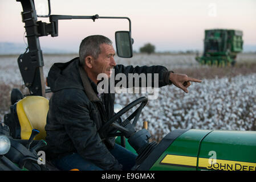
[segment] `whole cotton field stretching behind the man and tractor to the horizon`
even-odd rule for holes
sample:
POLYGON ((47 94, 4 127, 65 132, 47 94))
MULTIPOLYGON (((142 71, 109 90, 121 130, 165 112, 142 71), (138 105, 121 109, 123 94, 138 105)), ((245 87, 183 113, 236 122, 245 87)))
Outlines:
MULTIPOLYGON (((45 55, 44 76, 53 63, 66 62, 76 55, 45 55)), ((148 100, 137 127, 148 121, 152 138, 160 140, 175 129, 256 129, 256 55, 240 54, 236 68, 209 68, 199 65, 195 55, 135 55, 132 59, 116 57, 117 64, 164 65, 174 72, 185 73, 202 80, 189 86, 189 93, 174 85, 159 89, 157 99, 148 100), (240 68, 240 65, 249 64, 240 68), (251 66, 253 65, 253 66, 251 66), (218 71, 218 72, 217 72, 218 71), (227 74, 227 72, 229 72, 227 74), (209 77, 212 75, 212 77, 209 77)), ((21 88, 18 56, 0 57, 0 118, 9 112, 10 90, 21 88)), ((23 90, 24 92, 24 90, 23 90)), ((125 106, 142 96, 150 94, 116 94, 116 104, 125 106)), ((50 96, 48 96, 50 97, 50 96)), ((123 118, 131 114, 129 111, 123 118)))

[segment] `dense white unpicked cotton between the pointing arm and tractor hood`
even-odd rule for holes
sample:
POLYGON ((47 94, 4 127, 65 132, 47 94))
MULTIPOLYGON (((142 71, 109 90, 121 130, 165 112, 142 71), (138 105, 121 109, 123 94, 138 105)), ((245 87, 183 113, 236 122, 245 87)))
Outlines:
MULTIPOLYGON (((233 78, 192 83, 189 93, 173 85, 159 90, 157 100, 144 107, 138 127, 148 121, 154 139, 175 129, 255 130, 256 73, 233 78)), ((117 104, 125 105, 147 94, 117 94, 117 104)))

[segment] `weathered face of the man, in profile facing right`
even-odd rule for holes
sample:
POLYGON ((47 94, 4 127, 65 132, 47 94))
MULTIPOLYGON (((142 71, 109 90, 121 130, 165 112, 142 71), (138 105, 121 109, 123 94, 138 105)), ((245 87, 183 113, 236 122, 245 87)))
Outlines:
POLYGON ((115 59, 115 50, 113 46, 108 44, 100 45, 100 54, 97 59, 94 59, 92 64, 92 72, 94 72, 95 76, 100 73, 107 74, 108 77, 111 76, 110 69, 116 65, 115 59))

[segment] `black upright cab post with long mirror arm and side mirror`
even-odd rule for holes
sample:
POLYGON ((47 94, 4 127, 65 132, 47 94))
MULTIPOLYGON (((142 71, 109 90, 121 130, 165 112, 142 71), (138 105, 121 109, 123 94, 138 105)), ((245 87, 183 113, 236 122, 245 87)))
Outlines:
POLYGON ((48 0, 48 15, 37 15, 35 3, 33 0, 17 0, 21 2, 23 12, 22 22, 25 23, 26 38, 28 47, 26 52, 18 57, 19 70, 21 72, 25 86, 29 89, 33 96, 45 97, 46 92, 51 92, 45 86, 43 76, 43 53, 40 48, 39 37, 58 36, 58 20, 67 19, 127 19, 129 22, 129 31, 117 31, 115 33, 116 51, 119 57, 132 57, 131 38, 131 20, 128 17, 121 16, 73 16, 73 15, 51 15, 51 3, 48 0), (49 18, 50 23, 38 21, 37 17, 49 18))

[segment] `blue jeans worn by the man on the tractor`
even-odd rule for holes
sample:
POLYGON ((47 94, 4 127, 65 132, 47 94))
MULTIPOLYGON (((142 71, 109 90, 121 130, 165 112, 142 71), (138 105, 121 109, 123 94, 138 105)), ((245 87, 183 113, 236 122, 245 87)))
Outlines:
MULTIPOLYGON (((131 151, 115 144, 112 150, 109 150, 111 154, 123 165, 124 171, 129 171, 135 165, 136 154, 131 151)), ((68 171, 70 169, 79 169, 79 171, 103 171, 100 167, 97 167, 90 160, 82 158, 78 153, 64 156, 60 159, 52 160, 52 163, 60 170, 68 171)))

